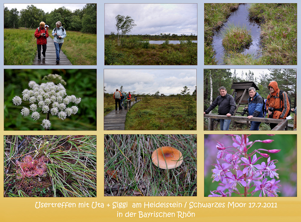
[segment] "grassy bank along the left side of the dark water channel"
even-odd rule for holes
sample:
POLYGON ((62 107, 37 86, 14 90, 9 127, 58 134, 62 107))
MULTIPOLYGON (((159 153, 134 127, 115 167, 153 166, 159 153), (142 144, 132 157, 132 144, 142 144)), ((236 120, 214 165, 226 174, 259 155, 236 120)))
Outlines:
POLYGON ((204 4, 204 64, 216 65, 212 46, 213 34, 227 21, 231 10, 237 9, 238 3, 206 3, 204 4))

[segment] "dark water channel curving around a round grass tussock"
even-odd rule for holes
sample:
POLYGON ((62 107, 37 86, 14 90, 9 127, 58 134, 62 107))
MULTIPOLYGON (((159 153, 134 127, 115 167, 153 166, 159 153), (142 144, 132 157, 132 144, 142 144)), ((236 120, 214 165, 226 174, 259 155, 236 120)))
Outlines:
POLYGON ((231 13, 228 21, 216 32, 213 36, 213 48, 216 51, 216 61, 218 65, 223 64, 223 56, 224 56, 224 47, 222 46, 222 32, 228 28, 229 24, 234 24, 234 26, 245 26, 247 30, 251 30, 250 34, 252 36, 253 42, 246 48, 243 54, 253 54, 256 58, 260 56, 261 48, 260 48, 260 26, 259 22, 256 20, 251 20, 249 15, 248 8, 250 4, 241 4, 238 9, 231 13))

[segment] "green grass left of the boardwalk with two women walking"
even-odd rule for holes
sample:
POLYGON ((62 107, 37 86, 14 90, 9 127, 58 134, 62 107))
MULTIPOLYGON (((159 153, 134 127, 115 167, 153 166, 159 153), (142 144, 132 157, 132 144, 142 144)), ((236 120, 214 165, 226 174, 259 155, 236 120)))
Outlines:
POLYGON ((31 65, 37 53, 35 30, 4 29, 4 65, 31 65))

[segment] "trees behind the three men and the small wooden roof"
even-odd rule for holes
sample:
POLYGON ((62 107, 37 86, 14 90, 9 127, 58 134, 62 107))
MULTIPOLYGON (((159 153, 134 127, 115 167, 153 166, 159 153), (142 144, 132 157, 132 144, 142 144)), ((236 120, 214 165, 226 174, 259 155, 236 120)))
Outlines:
POLYGON ((267 98, 269 94, 268 84, 272 81, 278 83, 278 88, 287 92, 291 99, 291 108, 297 105, 296 89, 297 89, 297 71, 296 69, 268 69, 270 73, 264 70, 260 73, 259 78, 254 73, 249 72, 231 73, 230 69, 204 69, 204 109, 210 105, 210 85, 212 85, 213 100, 220 95, 219 87, 225 86, 227 93, 231 95, 233 89, 230 89, 233 83, 238 82, 254 82, 259 90, 256 90, 263 98, 267 98), (211 76, 211 80, 210 80, 211 76), (210 81, 212 84, 210 84, 210 81))

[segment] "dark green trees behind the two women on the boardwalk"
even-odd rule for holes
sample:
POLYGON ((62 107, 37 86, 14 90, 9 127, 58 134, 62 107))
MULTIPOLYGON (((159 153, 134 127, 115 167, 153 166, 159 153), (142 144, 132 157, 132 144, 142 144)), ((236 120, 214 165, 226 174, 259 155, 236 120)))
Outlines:
POLYGON ((44 21, 49 29, 54 29, 55 23, 61 21, 64 29, 96 34, 97 26, 96 4, 86 4, 82 9, 73 12, 61 7, 50 13, 45 13, 34 5, 27 5, 26 9, 17 11, 17 8, 8 10, 4 8, 4 28, 36 29, 41 21, 44 21))

